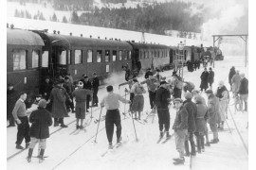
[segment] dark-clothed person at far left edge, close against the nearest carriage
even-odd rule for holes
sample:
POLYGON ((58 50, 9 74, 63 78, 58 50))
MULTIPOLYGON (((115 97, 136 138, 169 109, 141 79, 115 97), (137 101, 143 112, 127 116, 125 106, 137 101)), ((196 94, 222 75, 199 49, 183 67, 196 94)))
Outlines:
POLYGON ((18 99, 18 93, 13 89, 13 84, 8 84, 7 90, 7 120, 9 120, 8 127, 15 127, 14 118, 12 116, 12 110, 18 99))

